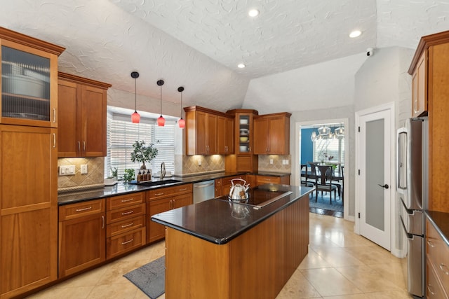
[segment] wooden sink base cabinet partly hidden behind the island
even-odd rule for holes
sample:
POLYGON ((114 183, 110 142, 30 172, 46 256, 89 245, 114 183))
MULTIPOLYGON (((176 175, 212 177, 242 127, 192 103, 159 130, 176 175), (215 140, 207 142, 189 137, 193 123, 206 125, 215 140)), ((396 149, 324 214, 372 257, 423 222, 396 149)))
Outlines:
POLYGON ((184 185, 159 188, 147 191, 147 243, 151 243, 166 236, 165 227, 151 221, 151 216, 170 209, 177 209, 193 204, 193 185, 184 185))

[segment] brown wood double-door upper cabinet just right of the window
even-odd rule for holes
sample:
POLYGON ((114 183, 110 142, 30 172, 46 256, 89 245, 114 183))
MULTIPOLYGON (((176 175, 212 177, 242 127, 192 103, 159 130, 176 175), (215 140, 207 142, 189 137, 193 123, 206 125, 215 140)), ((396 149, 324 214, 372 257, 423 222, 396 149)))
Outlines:
POLYGON ((185 107, 186 154, 227 155, 233 153, 234 121, 225 113, 200 106, 185 107))

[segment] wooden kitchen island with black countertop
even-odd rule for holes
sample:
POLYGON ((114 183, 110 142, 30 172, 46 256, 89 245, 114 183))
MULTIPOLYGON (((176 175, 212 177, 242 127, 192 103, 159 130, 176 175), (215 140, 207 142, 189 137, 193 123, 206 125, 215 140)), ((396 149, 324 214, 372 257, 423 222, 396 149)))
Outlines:
POLYGON ((152 216, 166 225, 166 298, 274 298, 307 255, 313 188, 265 184, 152 216), (266 204, 266 205, 264 205, 266 204))

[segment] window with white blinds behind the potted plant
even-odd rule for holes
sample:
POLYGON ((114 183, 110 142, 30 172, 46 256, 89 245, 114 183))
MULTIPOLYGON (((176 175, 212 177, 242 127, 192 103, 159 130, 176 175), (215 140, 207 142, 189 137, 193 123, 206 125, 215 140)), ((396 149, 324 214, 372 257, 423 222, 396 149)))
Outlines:
POLYGON ((165 162, 166 171, 175 173, 175 122, 166 121, 164 127, 158 127, 156 120, 140 118, 140 123, 131 123, 129 116, 108 113, 107 117, 107 158, 105 160, 105 176, 111 175, 111 168, 118 169, 119 178, 126 168, 139 169, 139 162, 132 162, 130 154, 133 143, 145 141, 158 149, 158 155, 147 169, 156 174, 165 162))

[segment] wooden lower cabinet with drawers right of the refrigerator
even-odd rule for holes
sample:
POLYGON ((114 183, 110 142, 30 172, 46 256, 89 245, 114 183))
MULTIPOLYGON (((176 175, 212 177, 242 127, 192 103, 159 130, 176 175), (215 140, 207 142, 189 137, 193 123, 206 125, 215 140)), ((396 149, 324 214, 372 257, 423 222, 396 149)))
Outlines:
POLYGON ((434 228, 426 221, 427 256, 427 298, 449 298, 449 246, 434 228))

